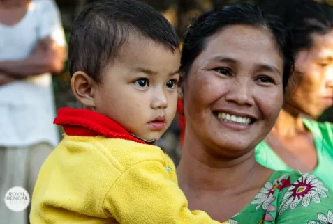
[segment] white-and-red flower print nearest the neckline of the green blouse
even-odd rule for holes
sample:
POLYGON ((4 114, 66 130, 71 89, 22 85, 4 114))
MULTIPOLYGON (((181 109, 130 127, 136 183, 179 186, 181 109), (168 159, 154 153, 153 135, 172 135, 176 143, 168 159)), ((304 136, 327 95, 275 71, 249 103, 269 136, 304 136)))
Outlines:
POLYGON ((282 175, 280 178, 274 179, 273 184, 270 182, 267 182, 265 186, 259 191, 259 193, 256 195, 255 200, 251 202, 252 205, 258 205, 256 207, 256 210, 258 210, 261 206, 262 209, 267 210, 268 205, 272 202, 273 193, 276 189, 280 189, 279 182, 285 177, 285 175, 282 175))

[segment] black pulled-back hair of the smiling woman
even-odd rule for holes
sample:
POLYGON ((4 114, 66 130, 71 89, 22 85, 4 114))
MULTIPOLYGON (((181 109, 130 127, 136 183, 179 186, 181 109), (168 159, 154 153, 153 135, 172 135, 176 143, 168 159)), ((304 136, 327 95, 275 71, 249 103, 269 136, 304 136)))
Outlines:
MULTIPOLYGON (((292 1, 292 0, 290 0, 292 1)), ((205 49, 209 38, 227 26, 249 25, 269 30, 283 58, 283 90, 293 72, 294 56, 290 32, 281 19, 269 15, 258 6, 236 4, 209 11, 193 20, 184 35, 181 72, 185 80, 195 58, 205 49)))

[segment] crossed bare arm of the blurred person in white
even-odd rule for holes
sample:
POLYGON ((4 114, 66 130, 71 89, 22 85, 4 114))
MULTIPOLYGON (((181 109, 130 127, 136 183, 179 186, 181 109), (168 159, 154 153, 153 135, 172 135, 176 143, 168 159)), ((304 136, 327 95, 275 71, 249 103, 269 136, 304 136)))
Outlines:
POLYGON ((43 38, 34 51, 23 60, 0 61, 0 86, 45 72, 59 73, 64 69, 66 49, 51 38, 43 38))

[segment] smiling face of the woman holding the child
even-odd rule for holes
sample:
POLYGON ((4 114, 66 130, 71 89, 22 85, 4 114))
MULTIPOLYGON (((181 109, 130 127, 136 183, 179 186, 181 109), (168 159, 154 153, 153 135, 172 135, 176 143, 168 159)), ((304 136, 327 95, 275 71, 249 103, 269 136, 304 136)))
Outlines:
POLYGON ((282 78, 283 60, 269 31, 244 25, 219 31, 184 83, 186 136, 228 157, 252 150, 279 115, 282 78))

